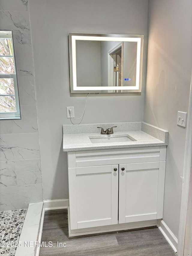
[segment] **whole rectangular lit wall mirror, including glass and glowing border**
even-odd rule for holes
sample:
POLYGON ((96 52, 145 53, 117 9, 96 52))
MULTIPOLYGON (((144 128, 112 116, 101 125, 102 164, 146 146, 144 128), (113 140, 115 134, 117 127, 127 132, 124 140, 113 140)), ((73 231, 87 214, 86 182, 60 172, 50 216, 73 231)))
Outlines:
POLYGON ((141 92, 143 35, 69 33, 70 92, 141 92))

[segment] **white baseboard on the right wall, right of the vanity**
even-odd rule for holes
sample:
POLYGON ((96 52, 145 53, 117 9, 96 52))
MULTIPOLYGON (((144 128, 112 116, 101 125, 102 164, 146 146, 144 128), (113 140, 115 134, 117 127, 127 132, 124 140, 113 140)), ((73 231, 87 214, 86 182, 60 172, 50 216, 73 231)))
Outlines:
POLYGON ((167 242, 172 247, 173 251, 177 252, 177 246, 178 246, 178 239, 173 234, 173 232, 170 230, 170 228, 165 224, 163 220, 158 221, 158 228, 161 231, 161 233, 164 235, 167 242))

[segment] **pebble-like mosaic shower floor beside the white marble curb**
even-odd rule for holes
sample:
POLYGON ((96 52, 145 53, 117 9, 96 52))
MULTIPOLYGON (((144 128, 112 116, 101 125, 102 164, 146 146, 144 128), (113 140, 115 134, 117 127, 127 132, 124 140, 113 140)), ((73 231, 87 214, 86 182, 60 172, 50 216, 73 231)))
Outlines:
POLYGON ((0 212, 0 255, 15 255, 16 247, 10 245, 19 242, 26 213, 27 209, 0 212))

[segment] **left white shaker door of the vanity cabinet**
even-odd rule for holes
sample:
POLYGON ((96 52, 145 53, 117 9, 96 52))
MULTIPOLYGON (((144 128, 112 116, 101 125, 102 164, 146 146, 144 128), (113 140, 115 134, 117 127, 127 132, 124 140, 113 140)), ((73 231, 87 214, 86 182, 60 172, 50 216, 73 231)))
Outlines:
POLYGON ((118 223, 119 166, 68 168, 70 228, 118 223))

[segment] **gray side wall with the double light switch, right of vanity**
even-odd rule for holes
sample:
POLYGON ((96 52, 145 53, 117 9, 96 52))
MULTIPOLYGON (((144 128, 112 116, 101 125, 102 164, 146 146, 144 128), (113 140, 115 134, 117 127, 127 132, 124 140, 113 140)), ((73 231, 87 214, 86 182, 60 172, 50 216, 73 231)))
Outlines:
POLYGON ((177 111, 188 111, 192 68, 191 0, 150 0, 144 121, 169 131, 163 220, 178 237, 186 128, 177 111))

